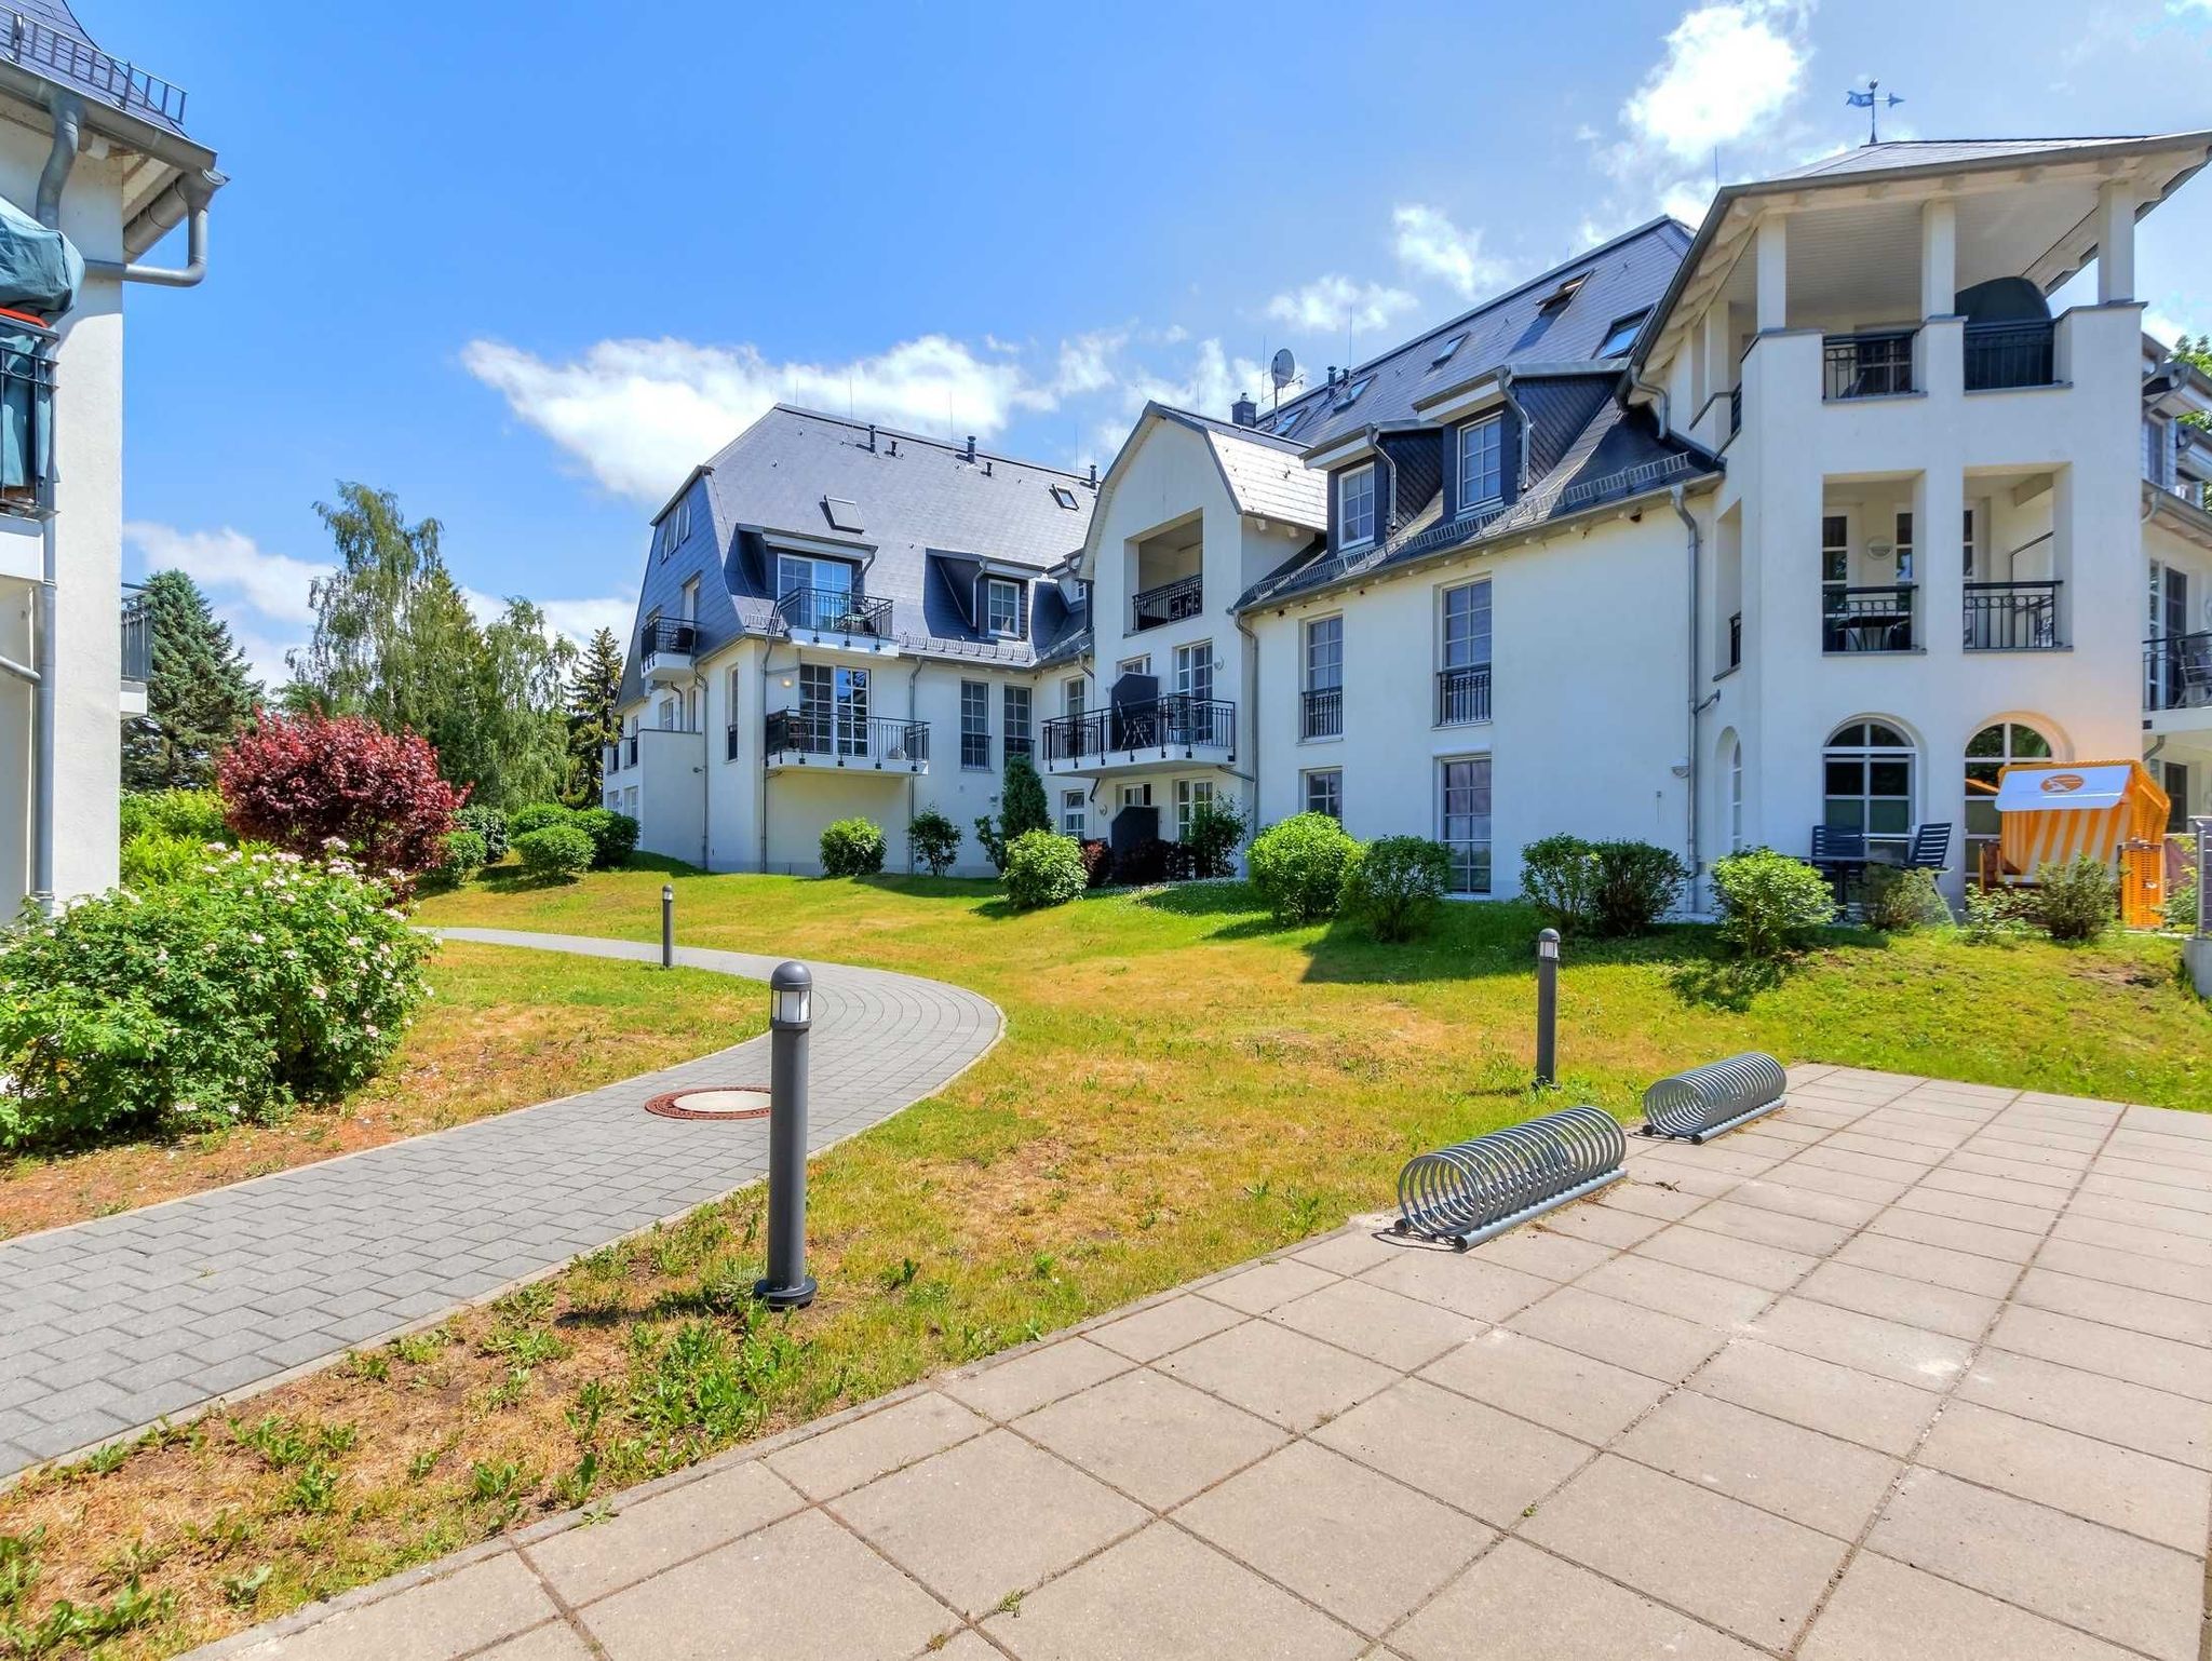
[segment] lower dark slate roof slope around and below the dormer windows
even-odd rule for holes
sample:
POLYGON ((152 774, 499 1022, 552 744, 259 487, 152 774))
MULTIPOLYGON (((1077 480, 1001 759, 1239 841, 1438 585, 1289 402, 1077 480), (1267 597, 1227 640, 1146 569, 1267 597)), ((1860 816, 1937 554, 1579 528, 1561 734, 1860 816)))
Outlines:
POLYGON ((1272 606, 1416 560, 1502 542, 1721 471, 1717 456, 1663 436, 1650 409, 1624 407, 1613 396, 1613 380, 1608 369, 1515 383, 1531 422, 1533 478, 1511 506, 1447 520, 1438 502, 1385 544, 1360 549, 1349 560, 1325 546, 1307 549, 1252 584, 1237 608, 1272 606))

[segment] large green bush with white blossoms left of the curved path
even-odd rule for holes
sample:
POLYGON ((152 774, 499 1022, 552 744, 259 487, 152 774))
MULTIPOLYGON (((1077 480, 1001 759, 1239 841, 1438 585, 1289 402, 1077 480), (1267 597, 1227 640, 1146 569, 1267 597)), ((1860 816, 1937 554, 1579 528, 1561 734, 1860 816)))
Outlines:
POLYGON ((374 1075, 431 944, 343 852, 208 849, 0 936, 0 1148, 270 1119, 374 1075))

